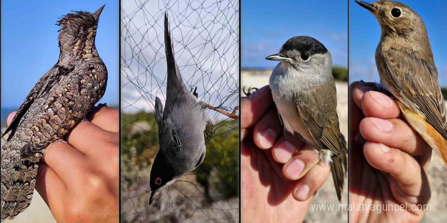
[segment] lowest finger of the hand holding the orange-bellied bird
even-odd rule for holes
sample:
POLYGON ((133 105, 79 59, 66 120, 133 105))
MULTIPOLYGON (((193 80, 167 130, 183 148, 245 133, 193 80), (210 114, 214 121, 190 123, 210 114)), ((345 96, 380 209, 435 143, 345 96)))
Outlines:
POLYGON ((368 163, 396 179, 400 189, 418 197, 422 188, 421 166, 407 153, 382 143, 367 141, 363 152, 368 163))

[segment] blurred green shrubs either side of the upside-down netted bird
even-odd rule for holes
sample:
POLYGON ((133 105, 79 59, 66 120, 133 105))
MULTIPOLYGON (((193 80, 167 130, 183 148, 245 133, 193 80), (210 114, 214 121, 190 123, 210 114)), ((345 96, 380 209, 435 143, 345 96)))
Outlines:
MULTIPOLYGON (((194 170, 196 180, 205 189, 207 198, 228 199, 238 196, 238 126, 239 120, 213 122, 215 132, 207 140, 205 160, 194 170)), ((152 114, 121 113, 121 163, 150 169, 158 148, 158 129, 152 114)), ((131 169, 121 168, 121 171, 124 171, 122 176, 126 181, 135 179, 135 176, 129 176, 131 169)))

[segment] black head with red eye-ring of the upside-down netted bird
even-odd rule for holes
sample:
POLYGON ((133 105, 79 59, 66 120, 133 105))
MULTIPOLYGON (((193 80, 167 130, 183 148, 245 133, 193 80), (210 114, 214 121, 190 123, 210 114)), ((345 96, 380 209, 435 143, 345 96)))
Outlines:
POLYGON ((171 183, 174 180, 174 176, 174 168, 167 162, 165 154, 162 151, 158 151, 158 154, 152 164, 152 169, 150 170, 149 184, 151 195, 149 205, 152 204, 155 193, 166 184, 171 183))

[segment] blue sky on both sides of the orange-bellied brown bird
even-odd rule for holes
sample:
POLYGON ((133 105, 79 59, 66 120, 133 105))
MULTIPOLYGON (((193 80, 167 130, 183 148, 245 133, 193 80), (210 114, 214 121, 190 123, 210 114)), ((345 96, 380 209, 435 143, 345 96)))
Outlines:
MULTIPOLYGON (((446 1, 400 1, 411 7, 424 20, 433 51, 438 79, 447 87, 447 9, 446 1)), ((379 82, 375 49, 380 40, 380 27, 374 16, 354 1, 349 1, 349 82, 363 79, 379 82)))

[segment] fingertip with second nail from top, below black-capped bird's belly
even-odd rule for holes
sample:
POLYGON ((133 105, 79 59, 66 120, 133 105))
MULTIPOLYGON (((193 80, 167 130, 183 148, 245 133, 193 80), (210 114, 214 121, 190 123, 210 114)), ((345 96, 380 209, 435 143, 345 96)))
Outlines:
POLYGON ((303 146, 298 137, 287 134, 280 137, 272 147, 272 157, 278 163, 288 162, 293 155, 303 146))

